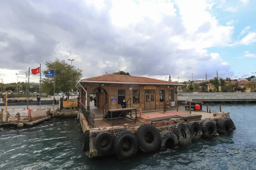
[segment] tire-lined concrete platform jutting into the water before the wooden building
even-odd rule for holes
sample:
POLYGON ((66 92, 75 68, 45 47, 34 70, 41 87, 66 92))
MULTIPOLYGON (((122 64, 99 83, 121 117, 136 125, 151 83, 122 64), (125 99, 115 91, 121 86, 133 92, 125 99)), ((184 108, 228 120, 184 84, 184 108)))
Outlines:
POLYGON ((175 149, 236 129, 228 112, 172 111, 143 113, 141 116, 136 116, 136 112, 126 116, 126 113, 131 113, 129 108, 112 111, 114 126, 106 120, 110 119, 111 112, 90 123, 84 114, 78 113, 84 133, 82 150, 89 158, 115 154, 119 159, 131 159, 138 149, 144 152, 175 149), (94 127, 91 127, 92 123, 94 127))

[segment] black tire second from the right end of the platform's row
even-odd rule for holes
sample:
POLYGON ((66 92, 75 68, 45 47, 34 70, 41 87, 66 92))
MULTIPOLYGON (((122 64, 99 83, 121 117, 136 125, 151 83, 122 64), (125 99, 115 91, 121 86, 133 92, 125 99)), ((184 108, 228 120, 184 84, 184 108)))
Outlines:
POLYGON ((217 127, 214 122, 206 120, 200 123, 204 138, 215 138, 218 136, 217 127))

